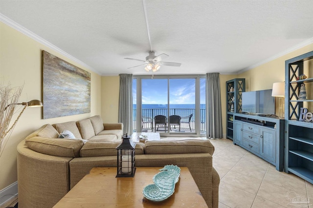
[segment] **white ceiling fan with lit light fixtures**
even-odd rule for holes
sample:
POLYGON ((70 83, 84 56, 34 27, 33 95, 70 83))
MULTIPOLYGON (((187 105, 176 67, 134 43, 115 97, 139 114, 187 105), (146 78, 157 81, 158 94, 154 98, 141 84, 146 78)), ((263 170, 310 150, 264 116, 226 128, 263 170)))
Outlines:
MULTIPOLYGON (((165 53, 162 53, 156 56, 154 51, 149 51, 149 56, 146 57, 146 61, 140 60, 140 59, 132 59, 132 58, 124 58, 124 59, 144 62, 143 64, 140 64, 137 66, 146 65, 145 70, 147 72, 149 72, 150 70, 152 70, 152 72, 156 72, 157 70, 159 70, 161 65, 166 65, 166 66, 180 66, 181 65, 181 63, 175 63, 175 62, 162 62, 162 59, 165 59, 167 57, 169 56, 165 53)), ((129 67, 129 69, 137 67, 137 66, 129 67)))

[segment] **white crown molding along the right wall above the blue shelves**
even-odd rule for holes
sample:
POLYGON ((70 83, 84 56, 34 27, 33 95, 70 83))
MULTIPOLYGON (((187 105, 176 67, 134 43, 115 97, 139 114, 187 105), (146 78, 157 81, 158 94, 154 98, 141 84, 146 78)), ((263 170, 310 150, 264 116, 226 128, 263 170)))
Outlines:
POLYGON ((289 54, 289 53, 291 53, 291 52, 293 52, 293 51, 295 51, 295 50, 297 50, 297 49, 303 48, 304 46, 307 46, 307 45, 312 44, 312 43, 313 43, 313 38, 310 38, 310 39, 308 39, 308 40, 306 40, 306 41, 304 41, 304 42, 301 42, 301 43, 299 43, 299 44, 297 44, 297 45, 294 45, 293 47, 291 47, 291 48, 289 48, 289 49, 287 49, 287 50, 285 50, 285 51, 283 51, 283 52, 281 52, 281 53, 278 53, 278 54, 276 54, 276 55, 274 55, 274 56, 272 56, 272 57, 269 57, 268 59, 263 60, 262 62, 258 62, 258 63, 256 63, 256 64, 253 64, 253 65, 251 65, 251 66, 248 66, 248 67, 246 67, 246 68, 244 68, 244 69, 238 71, 237 74, 241 74, 241 73, 243 73, 243 72, 245 72, 245 71, 248 71, 248 70, 250 70, 250 69, 253 69, 253 68, 255 68, 255 67, 258 67, 258 66, 260 66, 260 65, 262 65, 262 64, 264 64, 264 63, 267 63, 267 62, 273 61, 273 60, 275 60, 275 59, 278 59, 279 57, 282 57, 282 56, 284 56, 284 55, 286 55, 286 54, 289 54))

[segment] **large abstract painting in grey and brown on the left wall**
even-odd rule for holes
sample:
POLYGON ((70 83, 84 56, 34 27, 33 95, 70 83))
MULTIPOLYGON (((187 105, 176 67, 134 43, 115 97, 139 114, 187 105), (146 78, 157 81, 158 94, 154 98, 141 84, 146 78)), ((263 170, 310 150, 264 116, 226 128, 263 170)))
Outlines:
POLYGON ((90 112, 90 73, 46 51, 42 54, 43 119, 90 112))

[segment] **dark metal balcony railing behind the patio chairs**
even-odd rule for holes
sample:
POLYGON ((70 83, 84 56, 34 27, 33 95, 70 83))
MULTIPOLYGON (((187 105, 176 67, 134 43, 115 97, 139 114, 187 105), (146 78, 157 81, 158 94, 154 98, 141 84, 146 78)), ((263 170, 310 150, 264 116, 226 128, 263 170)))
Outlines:
MULTIPOLYGON (((148 108, 148 109, 142 109, 141 115, 144 117, 151 118, 152 123, 143 123, 142 129, 153 129, 154 128, 154 117, 156 115, 164 115, 167 116, 167 109, 161 109, 161 108, 148 108), (151 126, 152 125, 152 126, 151 126)), ((190 120, 190 128, 193 132, 195 132, 195 109, 194 108, 170 108, 170 116, 171 115, 179 115, 181 118, 185 117, 187 118, 189 115, 193 114, 190 120)), ((133 131, 137 131, 136 127, 136 109, 133 109, 133 131)), ((140 118, 141 120, 141 118, 140 118)), ((188 119, 184 119, 184 122, 188 119)), ((142 124, 142 121, 140 122, 142 124)), ((180 124, 181 129, 189 129, 188 123, 181 123, 180 124)), ((206 125, 205 125, 205 109, 200 109, 200 131, 201 133, 206 132, 206 125)))

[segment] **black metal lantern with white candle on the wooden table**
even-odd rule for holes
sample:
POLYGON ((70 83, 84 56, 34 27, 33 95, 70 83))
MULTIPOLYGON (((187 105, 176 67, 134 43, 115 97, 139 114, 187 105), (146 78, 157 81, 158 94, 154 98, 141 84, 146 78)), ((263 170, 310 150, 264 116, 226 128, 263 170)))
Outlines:
POLYGON ((135 167, 135 143, 127 134, 122 136, 122 144, 117 149, 117 174, 116 177, 134 177, 135 167))

